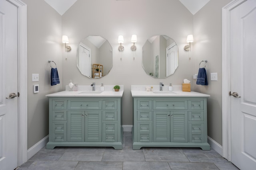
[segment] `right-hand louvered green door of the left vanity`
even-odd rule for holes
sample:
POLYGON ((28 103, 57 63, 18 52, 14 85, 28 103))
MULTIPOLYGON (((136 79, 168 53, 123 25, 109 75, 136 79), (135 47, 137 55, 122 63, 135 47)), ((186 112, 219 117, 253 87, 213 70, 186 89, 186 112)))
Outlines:
POLYGON ((102 141, 102 115, 101 111, 85 111, 85 141, 102 141))

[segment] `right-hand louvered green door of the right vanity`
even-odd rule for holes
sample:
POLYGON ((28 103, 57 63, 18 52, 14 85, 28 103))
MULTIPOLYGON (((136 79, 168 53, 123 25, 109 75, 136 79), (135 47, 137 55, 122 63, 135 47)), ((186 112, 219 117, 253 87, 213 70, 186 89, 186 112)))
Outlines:
POLYGON ((188 142, 188 112, 171 111, 171 142, 188 142))

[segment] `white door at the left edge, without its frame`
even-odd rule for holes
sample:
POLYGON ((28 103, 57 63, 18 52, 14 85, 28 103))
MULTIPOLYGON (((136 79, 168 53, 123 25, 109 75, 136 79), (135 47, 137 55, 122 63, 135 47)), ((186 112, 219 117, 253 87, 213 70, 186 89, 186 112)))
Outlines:
POLYGON ((18 94, 17 11, 10 2, 0 0, 1 170, 13 170, 18 166, 18 97, 15 97, 18 94), (9 96, 11 93, 15 94, 9 96))

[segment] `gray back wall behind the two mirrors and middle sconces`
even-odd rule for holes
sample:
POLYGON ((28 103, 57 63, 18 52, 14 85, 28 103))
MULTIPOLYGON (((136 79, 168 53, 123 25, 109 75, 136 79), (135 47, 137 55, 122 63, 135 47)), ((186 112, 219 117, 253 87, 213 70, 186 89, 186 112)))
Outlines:
POLYGON ((193 64, 188 60, 188 52, 183 50, 186 37, 193 33, 193 15, 179 0, 78 0, 62 16, 62 34, 68 35, 72 51, 68 52, 68 61, 63 60, 63 88, 72 78, 79 85, 124 85, 122 121, 132 125, 131 85, 181 85, 184 78, 191 79, 193 64), (100 4, 100 5, 99 5, 100 4), (172 18, 172 22, 170 22, 172 18), (135 60, 130 49, 132 34, 136 34, 135 60), (76 68, 76 47, 80 40, 88 35, 101 35, 108 39, 113 47, 113 67, 107 76, 89 79, 82 76, 76 68), (118 35, 124 36, 122 61, 118 51, 118 35), (175 74, 164 79, 148 76, 142 68, 142 46, 153 35, 167 35, 173 38, 179 47, 179 67, 175 74), (66 69, 68 68, 68 69, 66 69))

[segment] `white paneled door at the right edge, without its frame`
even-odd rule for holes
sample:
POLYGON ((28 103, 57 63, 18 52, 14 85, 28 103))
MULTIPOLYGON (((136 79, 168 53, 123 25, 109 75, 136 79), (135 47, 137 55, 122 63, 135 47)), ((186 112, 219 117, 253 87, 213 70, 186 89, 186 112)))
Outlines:
POLYGON ((256 0, 247 0, 231 11, 231 162, 241 170, 256 167, 255 47, 256 0))

